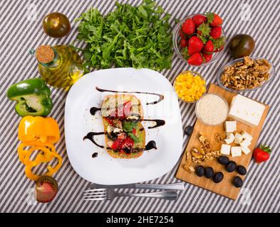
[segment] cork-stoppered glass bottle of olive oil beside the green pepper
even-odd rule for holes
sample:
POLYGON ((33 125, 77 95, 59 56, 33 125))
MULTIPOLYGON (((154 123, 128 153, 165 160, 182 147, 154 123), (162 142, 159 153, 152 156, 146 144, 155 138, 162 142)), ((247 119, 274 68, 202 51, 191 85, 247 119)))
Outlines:
POLYGON ((38 61, 42 79, 53 87, 68 90, 84 74, 81 57, 67 45, 41 45, 31 54, 38 61))

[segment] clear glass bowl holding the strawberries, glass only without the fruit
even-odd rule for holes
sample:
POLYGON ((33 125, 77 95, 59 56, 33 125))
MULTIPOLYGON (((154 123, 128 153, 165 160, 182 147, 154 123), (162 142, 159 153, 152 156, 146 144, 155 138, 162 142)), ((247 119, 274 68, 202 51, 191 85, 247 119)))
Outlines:
MULTIPOLYGON (((187 16, 182 21, 177 23, 177 25, 175 26, 175 29, 173 31, 173 38, 172 39, 173 39, 173 47, 175 48, 175 52, 178 55, 178 57, 180 57, 180 59, 183 60, 186 63, 187 63, 187 60, 185 60, 185 58, 182 56, 182 53, 180 52, 180 40, 181 40, 180 29, 181 29, 182 23, 184 23, 187 20, 187 18, 192 18, 195 15, 206 16, 205 14, 200 14, 200 13, 195 13, 195 14, 192 14, 190 16, 187 16)), ((222 29, 222 36, 224 36, 226 38, 226 36, 224 35, 224 30, 223 29, 222 29)), ((224 43, 224 48, 226 47, 226 45, 227 45, 227 41, 224 43)), ((191 66, 202 67, 202 66, 205 66, 205 65, 210 65, 213 62, 216 62, 220 57, 222 57, 222 53, 224 52, 224 48, 219 52, 214 52, 213 55, 212 55, 212 59, 209 60, 209 62, 202 63, 202 65, 191 65, 191 66)))

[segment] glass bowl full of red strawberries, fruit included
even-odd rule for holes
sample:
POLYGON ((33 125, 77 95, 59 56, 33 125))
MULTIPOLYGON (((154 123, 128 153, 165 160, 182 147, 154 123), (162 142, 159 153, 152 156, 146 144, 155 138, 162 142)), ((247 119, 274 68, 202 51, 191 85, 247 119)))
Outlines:
POLYGON ((184 18, 173 31, 176 54, 192 66, 216 62, 226 45, 222 22, 222 18, 211 12, 184 18))

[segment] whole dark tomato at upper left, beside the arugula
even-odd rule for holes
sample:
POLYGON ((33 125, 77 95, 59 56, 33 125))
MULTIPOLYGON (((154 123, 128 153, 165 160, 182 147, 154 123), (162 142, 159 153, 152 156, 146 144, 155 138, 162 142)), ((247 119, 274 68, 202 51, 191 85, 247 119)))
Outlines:
POLYGON ((71 25, 62 13, 50 13, 43 18, 43 31, 52 38, 61 38, 70 32, 71 25))

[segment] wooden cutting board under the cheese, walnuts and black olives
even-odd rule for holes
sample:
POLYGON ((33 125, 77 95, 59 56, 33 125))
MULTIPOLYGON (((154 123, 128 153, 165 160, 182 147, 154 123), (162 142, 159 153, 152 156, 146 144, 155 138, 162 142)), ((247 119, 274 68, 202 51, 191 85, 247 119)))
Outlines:
MULTIPOLYGON (((214 84, 210 84, 208 93, 215 93, 215 94, 219 94, 219 95, 223 96, 224 99, 227 100, 229 106, 232 102, 232 98, 235 95, 237 95, 236 93, 228 92, 227 90, 222 89, 221 87, 218 87, 217 85, 214 85, 214 84)), ((247 133, 249 133, 253 136, 252 144, 249 146, 249 148, 251 150, 253 150, 256 146, 256 142, 261 133, 261 128, 264 124, 264 120, 269 111, 269 106, 266 104, 264 104, 264 106, 266 106, 266 108, 264 110, 264 114, 261 117, 259 126, 250 127, 250 126, 247 126, 247 125, 237 121, 237 132, 238 133, 242 133, 242 131, 247 131, 247 133)), ((183 169, 183 166, 187 164, 187 152, 190 152, 190 150, 192 150, 192 148, 194 148, 194 147, 199 148, 199 146, 201 145, 201 143, 199 143, 199 140, 198 140, 199 133, 203 133, 207 137, 207 139, 209 140, 209 143, 212 145, 213 150, 220 150, 222 143, 216 142, 215 135, 216 135, 216 133, 224 133, 224 123, 219 126, 206 126, 203 123, 201 123, 199 120, 196 121, 194 131, 190 137, 189 143, 187 144, 187 148, 182 157, 180 166, 177 170, 176 177, 178 179, 182 179, 185 182, 189 182, 191 184, 197 185, 198 187, 207 189, 211 192, 215 192, 222 196, 227 196, 229 199, 234 199, 234 200, 237 199, 240 188, 234 187, 234 185, 232 184, 232 180, 235 176, 239 176, 242 179, 244 179, 244 177, 246 177, 246 176, 239 175, 237 173, 237 171, 227 172, 225 170, 224 165, 221 165, 221 164, 219 164, 219 162, 217 162, 217 158, 214 158, 213 160, 211 160, 209 162, 202 162, 199 164, 195 164, 193 162, 190 162, 190 163, 192 163, 192 165, 194 167, 197 165, 203 165, 204 167, 212 167, 214 169, 214 172, 221 171, 224 174, 224 179, 219 184, 214 183, 212 181, 212 179, 207 179, 206 177, 198 177, 195 173, 183 169)), ((242 153, 242 156, 240 156, 240 157, 229 156, 229 160, 234 160, 235 162, 237 162, 237 165, 243 165, 246 168, 248 167, 251 158, 252 158, 252 151, 248 155, 244 155, 242 153)), ((246 179, 244 179, 244 180, 246 180, 246 179)))

